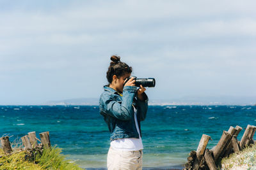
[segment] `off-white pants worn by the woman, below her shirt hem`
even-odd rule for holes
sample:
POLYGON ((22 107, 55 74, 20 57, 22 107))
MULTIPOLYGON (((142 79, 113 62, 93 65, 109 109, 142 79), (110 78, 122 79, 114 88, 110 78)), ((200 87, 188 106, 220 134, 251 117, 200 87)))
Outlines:
POLYGON ((142 156, 143 150, 114 150, 110 147, 108 151, 108 170, 141 170, 142 156))

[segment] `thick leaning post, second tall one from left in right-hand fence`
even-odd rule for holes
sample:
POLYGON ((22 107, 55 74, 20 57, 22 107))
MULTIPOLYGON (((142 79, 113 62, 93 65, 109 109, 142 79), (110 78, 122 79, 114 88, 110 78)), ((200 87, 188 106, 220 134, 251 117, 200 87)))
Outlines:
POLYGON ((223 151, 227 143, 230 142, 231 138, 232 138, 232 135, 230 133, 228 133, 227 131, 223 131, 220 141, 218 142, 218 144, 216 145, 216 148, 214 148, 214 151, 213 151, 215 161, 218 160, 221 152, 223 151))

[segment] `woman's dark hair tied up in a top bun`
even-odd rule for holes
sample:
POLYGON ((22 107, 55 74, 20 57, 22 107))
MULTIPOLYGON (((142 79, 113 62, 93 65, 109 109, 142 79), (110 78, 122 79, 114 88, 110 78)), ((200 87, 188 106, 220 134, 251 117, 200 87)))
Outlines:
POLYGON ((120 76, 123 76, 126 73, 132 73, 132 67, 129 67, 125 62, 121 62, 119 56, 112 55, 110 59, 112 61, 110 62, 110 66, 107 71, 107 79, 109 83, 112 83, 113 75, 120 78, 120 76))

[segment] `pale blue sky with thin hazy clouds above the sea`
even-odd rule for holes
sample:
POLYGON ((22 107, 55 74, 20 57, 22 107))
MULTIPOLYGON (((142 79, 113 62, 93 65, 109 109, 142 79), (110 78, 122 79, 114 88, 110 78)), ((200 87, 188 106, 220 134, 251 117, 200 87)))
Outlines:
POLYGON ((98 98, 111 55, 149 99, 256 96, 256 1, 2 1, 0 105, 98 98))

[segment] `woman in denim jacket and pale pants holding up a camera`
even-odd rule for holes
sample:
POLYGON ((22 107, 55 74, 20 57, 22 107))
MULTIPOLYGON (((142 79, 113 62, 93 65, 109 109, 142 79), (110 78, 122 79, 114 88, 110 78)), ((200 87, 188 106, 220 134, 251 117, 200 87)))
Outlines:
POLYGON ((132 67, 113 55, 107 71, 109 85, 104 86, 100 96, 100 114, 108 124, 110 147, 108 170, 142 169, 143 144, 140 122, 145 120, 148 97, 145 88, 137 90, 132 67))

